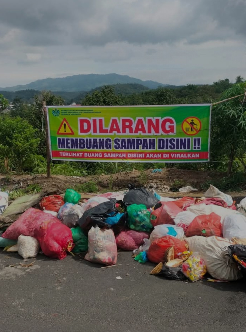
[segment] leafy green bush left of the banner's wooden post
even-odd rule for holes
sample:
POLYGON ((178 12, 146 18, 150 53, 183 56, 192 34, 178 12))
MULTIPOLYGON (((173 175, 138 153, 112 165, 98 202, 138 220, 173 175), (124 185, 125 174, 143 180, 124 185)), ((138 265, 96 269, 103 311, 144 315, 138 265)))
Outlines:
POLYGON ((35 134, 36 130, 26 120, 0 118, 0 156, 20 173, 38 149, 40 139, 35 134))

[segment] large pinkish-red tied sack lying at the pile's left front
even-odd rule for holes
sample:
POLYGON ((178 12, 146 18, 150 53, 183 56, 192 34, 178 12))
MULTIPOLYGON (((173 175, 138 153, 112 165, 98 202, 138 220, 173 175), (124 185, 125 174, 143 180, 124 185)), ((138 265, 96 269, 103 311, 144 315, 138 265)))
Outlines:
POLYGON ((66 251, 73 248, 72 232, 50 213, 30 207, 2 234, 17 240, 19 235, 35 237, 43 253, 52 258, 63 259, 66 251))

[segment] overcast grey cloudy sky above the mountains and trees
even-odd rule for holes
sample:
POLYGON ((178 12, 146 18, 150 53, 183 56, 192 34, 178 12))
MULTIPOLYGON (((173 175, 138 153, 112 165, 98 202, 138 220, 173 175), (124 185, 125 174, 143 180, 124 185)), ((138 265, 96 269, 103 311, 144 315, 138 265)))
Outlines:
POLYGON ((246 0, 7 0, 0 86, 118 73, 164 84, 246 78, 246 0))

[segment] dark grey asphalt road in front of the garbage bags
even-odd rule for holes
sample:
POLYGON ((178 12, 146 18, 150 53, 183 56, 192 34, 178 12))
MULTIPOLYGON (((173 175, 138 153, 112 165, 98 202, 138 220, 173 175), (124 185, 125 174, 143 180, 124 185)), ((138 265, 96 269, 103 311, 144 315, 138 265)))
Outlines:
POLYGON ((119 253, 121 266, 105 269, 70 254, 24 264, 31 262, 22 267, 18 254, 0 253, 0 331, 245 331, 245 280, 169 281, 150 276, 154 265, 135 262, 130 252, 119 253))

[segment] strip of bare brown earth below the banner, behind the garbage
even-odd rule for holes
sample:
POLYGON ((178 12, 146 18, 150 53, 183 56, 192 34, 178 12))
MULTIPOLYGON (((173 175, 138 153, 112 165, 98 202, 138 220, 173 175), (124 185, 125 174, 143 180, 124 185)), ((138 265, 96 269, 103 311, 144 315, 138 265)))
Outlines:
POLYGON ((14 190, 39 185, 43 190, 56 189, 58 193, 64 193, 67 188, 74 188, 90 182, 97 185, 98 192, 126 189, 129 184, 134 184, 136 187, 145 186, 154 188, 159 192, 177 192, 179 188, 186 185, 191 185, 201 190, 203 184, 208 183, 214 178, 218 179, 224 176, 224 173, 219 172, 180 170, 175 168, 163 169, 162 172, 156 173, 152 173, 152 170, 133 170, 110 175, 85 177, 53 175, 49 179, 45 175, 2 174, 0 175, 0 187, 5 190, 14 190))

